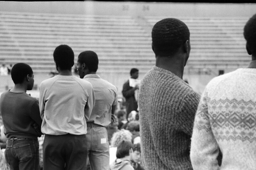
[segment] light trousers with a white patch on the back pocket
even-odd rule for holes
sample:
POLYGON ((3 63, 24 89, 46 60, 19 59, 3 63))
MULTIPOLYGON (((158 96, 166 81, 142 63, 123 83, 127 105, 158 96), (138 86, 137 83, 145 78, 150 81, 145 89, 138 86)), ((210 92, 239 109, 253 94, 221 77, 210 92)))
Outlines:
POLYGON ((108 132, 103 126, 87 122, 87 147, 91 170, 108 170, 108 132))

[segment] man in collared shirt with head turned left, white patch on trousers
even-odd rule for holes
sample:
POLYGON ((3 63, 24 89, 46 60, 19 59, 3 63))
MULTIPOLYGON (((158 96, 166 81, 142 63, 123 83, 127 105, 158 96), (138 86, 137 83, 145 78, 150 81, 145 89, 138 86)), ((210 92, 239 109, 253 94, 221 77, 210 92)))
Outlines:
MULTIPOLYGON (((92 84, 95 106, 87 123, 87 149, 92 170, 108 170, 109 144, 106 126, 116 122, 117 89, 96 73, 99 59, 95 52, 84 51, 78 55, 77 70, 80 78, 92 84)), ((84 158, 86 159, 86 157, 84 158)))

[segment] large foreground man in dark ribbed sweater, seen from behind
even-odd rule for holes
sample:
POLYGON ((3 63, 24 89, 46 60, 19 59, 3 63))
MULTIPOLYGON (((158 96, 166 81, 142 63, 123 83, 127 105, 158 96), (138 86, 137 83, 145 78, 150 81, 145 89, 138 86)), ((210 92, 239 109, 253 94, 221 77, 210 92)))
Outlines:
POLYGON ((175 18, 152 29, 154 66, 139 91, 142 162, 150 170, 192 170, 190 138, 199 95, 182 80, 190 53, 189 30, 175 18))

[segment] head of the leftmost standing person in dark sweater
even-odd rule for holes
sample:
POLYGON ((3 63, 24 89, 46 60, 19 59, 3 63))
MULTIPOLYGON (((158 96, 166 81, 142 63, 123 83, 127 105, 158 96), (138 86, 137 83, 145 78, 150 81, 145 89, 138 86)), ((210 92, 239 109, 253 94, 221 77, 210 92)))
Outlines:
POLYGON ((28 64, 15 64, 11 70, 11 77, 15 85, 26 84, 27 90, 32 90, 34 86, 34 74, 32 68, 28 64))

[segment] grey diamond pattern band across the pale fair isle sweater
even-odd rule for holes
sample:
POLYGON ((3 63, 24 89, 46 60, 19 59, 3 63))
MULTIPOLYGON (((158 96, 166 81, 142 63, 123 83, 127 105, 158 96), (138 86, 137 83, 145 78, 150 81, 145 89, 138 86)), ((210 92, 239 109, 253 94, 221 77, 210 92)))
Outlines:
MULTIPOLYGON (((212 110, 208 116, 217 140, 256 141, 255 102, 236 99, 210 100, 208 109, 212 110)), ((205 113, 200 112, 198 116, 204 119, 205 113)), ((209 130, 204 123, 197 124, 197 128, 209 130)))

